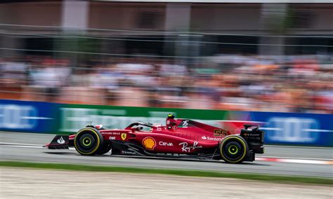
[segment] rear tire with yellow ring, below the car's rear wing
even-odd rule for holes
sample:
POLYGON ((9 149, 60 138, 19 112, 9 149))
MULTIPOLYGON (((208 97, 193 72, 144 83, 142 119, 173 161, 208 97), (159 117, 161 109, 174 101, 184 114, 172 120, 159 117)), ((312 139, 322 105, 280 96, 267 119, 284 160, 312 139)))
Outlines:
POLYGON ((218 147, 221 158, 226 163, 242 163, 249 153, 247 142, 239 135, 228 135, 218 147))

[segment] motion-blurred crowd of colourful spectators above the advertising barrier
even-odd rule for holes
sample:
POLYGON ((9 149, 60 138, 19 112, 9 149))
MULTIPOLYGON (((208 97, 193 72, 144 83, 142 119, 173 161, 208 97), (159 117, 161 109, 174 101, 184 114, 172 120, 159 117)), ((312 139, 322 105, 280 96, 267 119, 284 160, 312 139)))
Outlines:
POLYGON ((333 114, 333 58, 216 55, 73 62, 0 58, 0 98, 134 107, 333 114))

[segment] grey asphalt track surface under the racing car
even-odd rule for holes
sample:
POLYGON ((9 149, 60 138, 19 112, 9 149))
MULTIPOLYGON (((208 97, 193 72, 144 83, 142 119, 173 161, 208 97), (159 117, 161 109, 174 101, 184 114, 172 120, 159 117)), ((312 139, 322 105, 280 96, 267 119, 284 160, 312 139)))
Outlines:
MULTIPOLYGON (((279 174, 288 176, 333 178, 333 165, 312 163, 280 163, 256 160, 253 163, 228 164, 215 160, 175 160, 132 156, 81 156, 75 150, 43 148, 54 135, 18 132, 0 132, 0 160, 19 160, 46 163, 74 163, 85 165, 112 165, 124 167, 165 168, 181 170, 210 170, 279 174)), ((333 160, 332 148, 265 146, 265 153, 257 157, 302 160, 333 160)), ((135 168, 133 168, 135 169, 135 168)))

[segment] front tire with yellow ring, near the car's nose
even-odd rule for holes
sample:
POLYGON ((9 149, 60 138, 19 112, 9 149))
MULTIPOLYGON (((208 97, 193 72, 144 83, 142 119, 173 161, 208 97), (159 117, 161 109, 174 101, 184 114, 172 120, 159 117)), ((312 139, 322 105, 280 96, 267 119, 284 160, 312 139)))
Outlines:
POLYGON ((74 147, 84 156, 94 156, 103 149, 103 136, 96 128, 82 128, 74 138, 74 147))

